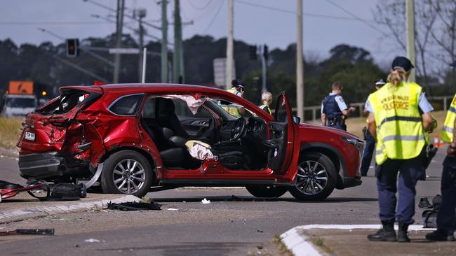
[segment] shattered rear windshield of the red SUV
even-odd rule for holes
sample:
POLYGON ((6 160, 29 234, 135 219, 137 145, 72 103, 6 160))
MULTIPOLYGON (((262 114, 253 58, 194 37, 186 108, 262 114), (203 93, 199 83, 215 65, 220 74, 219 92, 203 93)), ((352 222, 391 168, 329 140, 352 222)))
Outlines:
POLYGON ((60 95, 55 100, 49 102, 43 108, 40 108, 38 113, 41 114, 64 114, 68 113, 74 108, 81 106, 84 103, 91 101, 90 98, 98 97, 97 93, 88 93, 80 90, 69 91, 65 94, 60 95), (95 95, 93 95, 95 94, 95 95))

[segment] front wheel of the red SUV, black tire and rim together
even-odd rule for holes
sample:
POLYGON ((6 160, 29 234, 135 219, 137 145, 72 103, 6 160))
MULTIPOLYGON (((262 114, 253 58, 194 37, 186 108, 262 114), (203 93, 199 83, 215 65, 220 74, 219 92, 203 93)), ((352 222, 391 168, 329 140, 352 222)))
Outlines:
POLYGON ((307 152, 300 157, 295 185, 290 194, 300 201, 321 201, 334 190, 337 180, 331 159, 319 152, 307 152))

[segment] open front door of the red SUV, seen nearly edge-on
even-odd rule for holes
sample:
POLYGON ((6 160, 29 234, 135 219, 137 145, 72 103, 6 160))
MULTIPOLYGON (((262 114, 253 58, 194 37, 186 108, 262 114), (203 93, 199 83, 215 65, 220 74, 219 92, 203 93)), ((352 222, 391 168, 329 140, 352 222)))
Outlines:
POLYGON ((269 152, 268 166, 275 173, 285 173, 293 158, 293 143, 295 143, 295 123, 290 107, 290 101, 281 92, 276 101, 274 121, 269 122, 269 139, 276 148, 269 152))

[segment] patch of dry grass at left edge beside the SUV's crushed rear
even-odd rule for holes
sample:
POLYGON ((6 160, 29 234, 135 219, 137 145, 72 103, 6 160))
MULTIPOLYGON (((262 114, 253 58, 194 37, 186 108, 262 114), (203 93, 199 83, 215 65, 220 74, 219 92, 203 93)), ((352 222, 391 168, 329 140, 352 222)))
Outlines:
POLYGON ((14 149, 20 136, 23 118, 0 117, 0 147, 14 149))

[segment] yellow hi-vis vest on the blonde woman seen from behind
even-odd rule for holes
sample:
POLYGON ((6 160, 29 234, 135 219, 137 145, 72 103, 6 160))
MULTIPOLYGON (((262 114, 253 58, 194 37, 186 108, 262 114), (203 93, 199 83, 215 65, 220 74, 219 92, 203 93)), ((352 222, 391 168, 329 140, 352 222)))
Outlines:
POLYGON ((387 83, 371 94, 370 104, 377 125, 375 162, 387 159, 410 159, 424 147, 424 129, 418 101, 422 87, 401 82, 396 87, 387 83))

